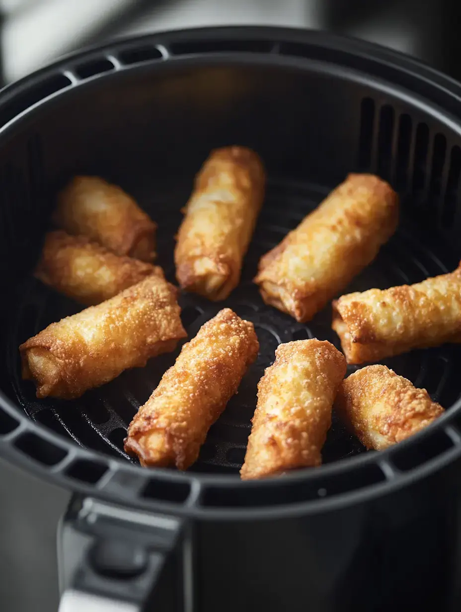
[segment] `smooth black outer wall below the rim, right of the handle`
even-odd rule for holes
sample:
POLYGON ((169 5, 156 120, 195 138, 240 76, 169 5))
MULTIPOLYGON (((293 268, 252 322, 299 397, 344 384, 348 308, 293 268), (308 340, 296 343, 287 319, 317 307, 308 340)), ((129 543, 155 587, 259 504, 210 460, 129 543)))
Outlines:
POLYGON ((459 610, 456 497, 428 482, 312 516, 200 524, 197 610, 459 610))

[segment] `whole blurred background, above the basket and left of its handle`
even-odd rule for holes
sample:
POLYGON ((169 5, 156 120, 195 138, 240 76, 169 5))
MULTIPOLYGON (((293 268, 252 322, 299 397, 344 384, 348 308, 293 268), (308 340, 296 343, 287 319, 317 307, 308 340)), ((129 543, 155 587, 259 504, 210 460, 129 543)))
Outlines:
MULTIPOLYGON (((461 79, 460 15, 460 0, 0 0, 0 82, 114 37, 225 24, 339 32, 461 79)), ((56 526, 69 494, 5 463, 0 487, 0 610, 57 610, 56 526)))

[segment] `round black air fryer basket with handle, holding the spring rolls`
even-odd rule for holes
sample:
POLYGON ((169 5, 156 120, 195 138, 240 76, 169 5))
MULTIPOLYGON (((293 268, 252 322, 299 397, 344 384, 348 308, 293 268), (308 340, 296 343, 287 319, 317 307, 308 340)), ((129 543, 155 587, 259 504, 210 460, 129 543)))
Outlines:
POLYGON ((427 430, 364 452, 334 419, 320 468, 238 476, 257 383, 277 345, 318 337, 339 346, 329 308, 298 324, 263 304, 251 282, 258 258, 348 172, 363 171, 399 191, 402 220, 345 293, 454 269, 460 111, 461 85, 418 62, 276 28, 124 40, 4 89, 0 450, 75 491, 60 535, 63 612, 461 610, 461 347, 386 360, 448 409, 427 430), (31 269, 58 189, 96 174, 159 223, 158 261, 173 280, 193 176, 211 149, 229 144, 261 155, 266 200, 238 289, 220 304, 183 295, 182 317, 192 337, 229 306, 255 324, 260 355, 189 471, 142 469, 122 440, 178 351, 80 400, 37 400, 21 381, 18 346, 80 307, 31 269))

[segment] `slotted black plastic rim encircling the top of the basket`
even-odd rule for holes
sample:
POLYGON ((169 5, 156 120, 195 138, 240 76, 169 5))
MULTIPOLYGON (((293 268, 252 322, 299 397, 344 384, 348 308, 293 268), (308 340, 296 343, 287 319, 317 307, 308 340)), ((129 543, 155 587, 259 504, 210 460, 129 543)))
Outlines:
MULTIPOLYGON (((152 69, 152 64, 160 67, 165 62, 177 64, 192 60, 195 63, 277 63, 298 69, 303 69, 307 63, 312 67, 314 62, 323 69, 328 66, 331 72, 340 69, 343 78, 348 76, 345 72, 349 71, 356 78, 392 89, 394 94, 399 92, 402 97, 424 106, 426 111, 437 115, 452 130, 461 134, 461 124, 454 116, 461 108, 461 85, 436 70, 402 54, 357 40, 322 32, 249 27, 204 28, 148 35, 92 48, 56 62, 2 90, 0 144, 1 138, 14 135, 22 118, 38 110, 42 104, 48 104, 51 99, 59 102, 59 95, 75 87, 86 86, 89 81, 100 78, 111 78, 124 70, 144 69, 146 66, 152 69), (225 41, 230 43, 226 45, 225 41), (214 45, 214 42, 219 44, 214 45), (48 89, 45 87, 44 90, 43 84, 49 85, 48 89), (47 95, 43 97, 42 93, 42 97, 34 99, 34 92, 39 89, 41 92, 47 91, 47 95), (21 108, 21 100, 27 100, 24 108, 21 108), (12 114, 13 107, 15 113, 12 114)), ((283 479, 241 482, 236 476, 180 474, 166 469, 147 471, 123 460, 83 449, 32 422, 0 393, 0 431, 4 432, 0 435, 0 453, 13 463, 62 487, 126 506, 233 520, 303 515, 354 504, 405 487, 461 457, 461 433, 457 428, 460 408, 461 400, 449 408, 436 424, 384 452, 362 453, 314 471, 293 472, 283 479), (56 460, 50 465, 21 452, 15 446, 15 441, 24 435, 30 435, 31 439, 35 436, 56 449, 56 460), (440 435, 449 444, 445 444, 432 458, 405 471, 395 466, 393 457, 396 452, 424 445, 440 435), (86 466, 90 477, 81 479, 75 476, 78 470, 74 468, 78 465, 86 466), (359 483, 356 487, 336 492, 333 487, 332 493, 329 493, 328 483, 347 479, 370 466, 380 471, 380 479, 370 479, 373 482, 367 485, 359 483), (264 503, 268 491, 271 491, 268 499, 273 499, 277 494, 283 500, 283 493, 287 489, 298 491, 296 501, 287 504, 279 502, 276 506, 272 502, 264 503), (260 498, 260 501, 253 505, 251 502, 236 505, 231 499, 235 491, 241 491, 250 499, 254 493, 255 499, 260 498), (214 504, 211 500, 219 496, 224 501, 214 504), (226 499, 230 500, 228 504, 226 499)))

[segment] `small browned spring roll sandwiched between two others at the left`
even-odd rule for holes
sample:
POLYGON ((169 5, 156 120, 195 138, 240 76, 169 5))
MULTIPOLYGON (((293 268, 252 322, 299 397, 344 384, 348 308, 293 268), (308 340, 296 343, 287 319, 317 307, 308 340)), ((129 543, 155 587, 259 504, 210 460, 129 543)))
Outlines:
POLYGON ((92 306, 151 274, 163 272, 145 261, 115 255, 86 236, 58 230, 45 237, 34 275, 67 297, 92 306))

